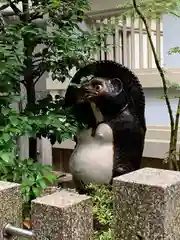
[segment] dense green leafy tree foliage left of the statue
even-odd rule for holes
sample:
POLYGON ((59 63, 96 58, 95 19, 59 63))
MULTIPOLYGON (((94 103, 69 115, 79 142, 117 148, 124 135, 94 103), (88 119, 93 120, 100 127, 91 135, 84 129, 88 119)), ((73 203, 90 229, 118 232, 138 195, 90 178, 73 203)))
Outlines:
POLYGON ((23 182, 27 201, 40 194, 47 178, 55 179, 50 168, 36 163, 37 138, 60 143, 78 127, 63 98, 38 100, 36 85, 45 74, 63 82, 74 67, 93 60, 108 31, 84 27, 88 10, 87 0, 7 0, 0 7, 0 179, 23 182), (17 141, 24 135, 29 159, 21 161, 17 141))

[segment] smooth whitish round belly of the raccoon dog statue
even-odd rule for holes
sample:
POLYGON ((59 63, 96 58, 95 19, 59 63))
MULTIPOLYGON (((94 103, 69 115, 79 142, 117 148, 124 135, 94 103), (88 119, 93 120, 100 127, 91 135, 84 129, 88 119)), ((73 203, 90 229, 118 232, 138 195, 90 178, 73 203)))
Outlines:
MULTIPOLYGON (((104 130, 100 128, 102 129, 104 130)), ((84 134, 84 141, 81 138, 70 157, 71 174, 85 184, 108 184, 112 178, 114 156, 112 137, 107 140, 107 132, 99 133, 93 138, 87 131, 84 134)))

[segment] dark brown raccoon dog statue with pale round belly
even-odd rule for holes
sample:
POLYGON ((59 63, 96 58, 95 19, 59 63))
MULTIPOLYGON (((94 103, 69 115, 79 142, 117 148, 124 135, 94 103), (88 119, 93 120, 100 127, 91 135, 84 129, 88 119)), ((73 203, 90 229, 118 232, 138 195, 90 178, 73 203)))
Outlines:
POLYGON ((109 184, 116 176, 140 168, 146 133, 145 97, 138 78, 113 61, 80 69, 69 86, 65 105, 73 106, 88 128, 76 135, 69 169, 77 189, 109 184))

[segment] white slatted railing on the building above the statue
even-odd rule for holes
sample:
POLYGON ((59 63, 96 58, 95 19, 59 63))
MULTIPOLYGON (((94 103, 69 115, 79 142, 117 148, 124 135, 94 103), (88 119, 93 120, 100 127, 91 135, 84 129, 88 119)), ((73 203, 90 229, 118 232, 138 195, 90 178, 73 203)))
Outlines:
MULTIPOLYGON (((115 60, 132 69, 155 68, 154 57, 147 38, 145 26, 140 19, 127 16, 93 17, 87 21, 89 26, 99 31, 108 23, 113 24, 113 34, 109 35, 103 45, 109 51, 101 50, 98 60, 115 60)), ((161 19, 148 20, 149 30, 156 52, 163 65, 163 27, 161 19)))

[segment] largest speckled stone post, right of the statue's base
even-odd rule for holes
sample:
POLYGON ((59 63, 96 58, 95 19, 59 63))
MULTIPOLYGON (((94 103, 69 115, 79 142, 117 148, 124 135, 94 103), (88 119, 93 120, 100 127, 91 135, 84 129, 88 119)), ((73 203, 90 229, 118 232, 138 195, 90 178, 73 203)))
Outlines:
POLYGON ((143 168, 117 177, 115 240, 180 239, 180 172, 143 168))

